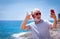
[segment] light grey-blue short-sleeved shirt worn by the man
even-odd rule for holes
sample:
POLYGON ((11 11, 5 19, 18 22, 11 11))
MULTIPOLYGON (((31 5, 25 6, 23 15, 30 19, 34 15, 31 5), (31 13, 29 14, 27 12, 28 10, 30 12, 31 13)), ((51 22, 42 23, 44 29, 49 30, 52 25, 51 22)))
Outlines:
POLYGON ((33 39, 51 39, 49 32, 50 25, 49 21, 41 19, 39 23, 32 22, 27 27, 32 31, 33 39))

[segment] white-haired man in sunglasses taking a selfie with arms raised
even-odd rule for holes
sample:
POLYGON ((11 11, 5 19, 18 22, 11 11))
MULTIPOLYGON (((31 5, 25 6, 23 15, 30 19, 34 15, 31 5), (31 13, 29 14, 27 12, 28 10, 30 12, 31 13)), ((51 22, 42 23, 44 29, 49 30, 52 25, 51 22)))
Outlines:
POLYGON ((49 30, 56 28, 57 25, 55 12, 50 12, 50 17, 54 19, 53 23, 41 19, 41 12, 39 9, 34 9, 31 15, 26 15, 22 22, 21 28, 24 30, 31 30, 33 39, 51 39, 49 30), (31 15, 34 21, 26 24, 26 22, 30 20, 31 15))

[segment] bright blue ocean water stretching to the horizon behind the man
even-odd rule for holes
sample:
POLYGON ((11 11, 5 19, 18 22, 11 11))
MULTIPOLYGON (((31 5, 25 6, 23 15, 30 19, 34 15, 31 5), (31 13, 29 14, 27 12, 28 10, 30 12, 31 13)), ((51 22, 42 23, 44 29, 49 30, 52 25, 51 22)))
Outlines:
MULTIPOLYGON (((30 23, 32 21, 28 21, 30 23)), ((50 20, 50 22, 53 22, 50 20)), ((10 36, 15 33, 28 32, 20 28, 22 20, 20 21, 0 21, 0 39, 11 39, 10 36)))

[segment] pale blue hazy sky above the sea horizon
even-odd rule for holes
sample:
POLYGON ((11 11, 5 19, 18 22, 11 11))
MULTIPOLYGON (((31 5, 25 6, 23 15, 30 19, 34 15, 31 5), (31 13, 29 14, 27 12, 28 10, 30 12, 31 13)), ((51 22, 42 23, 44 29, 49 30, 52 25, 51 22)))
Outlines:
POLYGON ((40 9, 42 19, 50 18, 50 9, 54 9, 57 19, 60 13, 60 0, 0 0, 0 20, 24 20, 26 12, 40 9))

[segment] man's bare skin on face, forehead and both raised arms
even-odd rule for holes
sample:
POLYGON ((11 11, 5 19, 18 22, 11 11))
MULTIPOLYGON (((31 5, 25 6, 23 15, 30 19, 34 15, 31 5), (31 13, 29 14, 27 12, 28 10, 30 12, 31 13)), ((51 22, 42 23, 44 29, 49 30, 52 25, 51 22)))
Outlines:
MULTIPOLYGON (((39 10, 34 10, 34 11, 33 11, 33 14, 36 14, 37 12, 40 12, 40 11, 39 11, 39 10)), ((26 14, 26 17, 25 17, 25 19, 23 20, 22 25, 21 25, 21 28, 22 28, 23 30, 28 30, 28 29, 29 29, 28 27, 26 27, 26 22, 31 19, 30 16, 31 16, 31 15, 29 15, 28 13, 26 14)), ((38 16, 34 15, 34 16, 35 16, 35 18, 33 18, 33 19, 35 20, 35 22, 36 22, 36 23, 40 22, 41 15, 38 15, 38 16)), ((54 19, 53 24, 51 24, 51 29, 52 29, 52 28, 56 28, 57 19, 56 19, 55 13, 53 13, 53 14, 50 13, 50 17, 54 19)))

